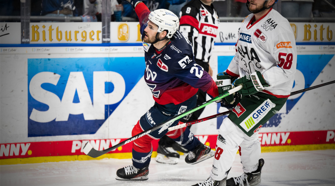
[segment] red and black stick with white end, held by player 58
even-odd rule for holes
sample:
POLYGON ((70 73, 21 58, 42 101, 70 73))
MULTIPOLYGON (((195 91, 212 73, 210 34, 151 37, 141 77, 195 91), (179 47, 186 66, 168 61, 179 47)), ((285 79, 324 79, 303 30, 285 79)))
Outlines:
MULTIPOLYGON (((313 87, 305 88, 305 89, 302 89, 302 90, 297 90, 297 91, 292 92, 290 94, 290 96, 293 96, 295 94, 299 94, 299 93, 302 93, 302 92, 306 92, 306 91, 309 91, 309 90, 313 90, 313 89, 316 89, 316 88, 319 88, 319 87, 323 87, 325 85, 333 84, 333 83, 335 83, 335 81, 330 81, 330 82, 323 83, 323 84, 320 84, 320 85, 316 85, 316 86, 313 86, 313 87)), ((200 123, 200 122, 207 121, 207 120, 210 120, 210 119, 213 119, 213 118, 217 118, 217 117, 227 115, 230 112, 231 111, 229 110, 229 111, 221 112, 221 113, 211 115, 211 116, 208 116, 208 117, 204 117, 202 119, 197 119, 197 120, 190 121, 190 122, 187 122, 187 123, 183 123, 183 124, 180 124, 180 125, 172 126, 172 127, 169 127, 168 130, 172 131, 172 130, 177 130, 179 128, 184 128, 186 126, 190 126, 190 125, 193 125, 195 123, 200 123)))

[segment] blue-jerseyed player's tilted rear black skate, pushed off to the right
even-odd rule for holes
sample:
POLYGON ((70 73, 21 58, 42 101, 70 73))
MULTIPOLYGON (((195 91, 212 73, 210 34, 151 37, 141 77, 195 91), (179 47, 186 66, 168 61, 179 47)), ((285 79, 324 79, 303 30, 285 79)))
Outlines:
POLYGON ((196 164, 202 162, 210 157, 213 157, 215 151, 211 150, 210 147, 199 144, 193 151, 190 151, 185 157, 185 162, 189 164, 196 164))

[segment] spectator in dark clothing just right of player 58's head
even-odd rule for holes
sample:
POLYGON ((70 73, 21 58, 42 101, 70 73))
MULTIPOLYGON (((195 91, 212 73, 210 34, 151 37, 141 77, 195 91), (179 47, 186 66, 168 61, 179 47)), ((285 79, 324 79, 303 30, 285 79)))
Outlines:
POLYGON ((281 0, 281 15, 288 17, 311 17, 314 0, 281 0))

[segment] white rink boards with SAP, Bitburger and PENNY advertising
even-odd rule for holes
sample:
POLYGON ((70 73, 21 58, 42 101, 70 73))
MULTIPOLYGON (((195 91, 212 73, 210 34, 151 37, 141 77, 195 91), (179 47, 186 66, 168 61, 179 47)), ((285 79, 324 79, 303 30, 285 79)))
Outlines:
MULTIPOLYGON (((61 161, 64 156, 84 156, 85 141, 103 150, 131 137, 133 126, 154 103, 143 79, 144 51, 138 30, 132 33, 131 29, 138 24, 114 25, 127 24, 129 38, 118 37, 120 33, 112 30, 111 41, 115 43, 102 43, 98 35, 101 25, 96 23, 50 23, 56 25, 45 28, 47 23, 31 23, 30 33, 35 35, 31 35, 30 45, 15 44, 20 43, 13 37, 19 30, 17 24, 3 24, 6 29, 1 34, 9 34, 1 37, 0 46, 1 160, 59 157, 57 161, 61 161), (36 25, 39 30, 33 32, 36 25), (69 31, 73 38, 64 42, 69 31)), ((334 24, 292 23, 292 28, 294 25, 298 56, 292 92, 334 80, 334 24)), ((218 30, 210 61, 213 74, 225 70, 235 55, 236 27, 239 23, 227 23, 218 30)), ((317 145, 334 148, 334 90, 332 84, 289 97, 260 128, 262 150, 296 150, 290 148, 296 145, 310 150, 317 145)), ((224 111, 210 104, 200 118, 224 111)), ((215 148, 224 117, 194 124, 191 131, 215 148)), ((156 141, 153 147, 157 148, 156 141)), ((109 154, 121 157, 130 152, 127 144, 109 154)))

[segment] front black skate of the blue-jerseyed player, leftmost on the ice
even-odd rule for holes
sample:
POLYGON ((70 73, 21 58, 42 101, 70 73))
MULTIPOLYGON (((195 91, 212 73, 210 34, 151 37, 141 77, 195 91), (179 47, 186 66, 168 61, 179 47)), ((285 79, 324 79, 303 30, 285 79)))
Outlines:
POLYGON ((149 167, 137 169, 133 165, 121 168, 116 171, 117 180, 147 180, 149 174, 149 167))

